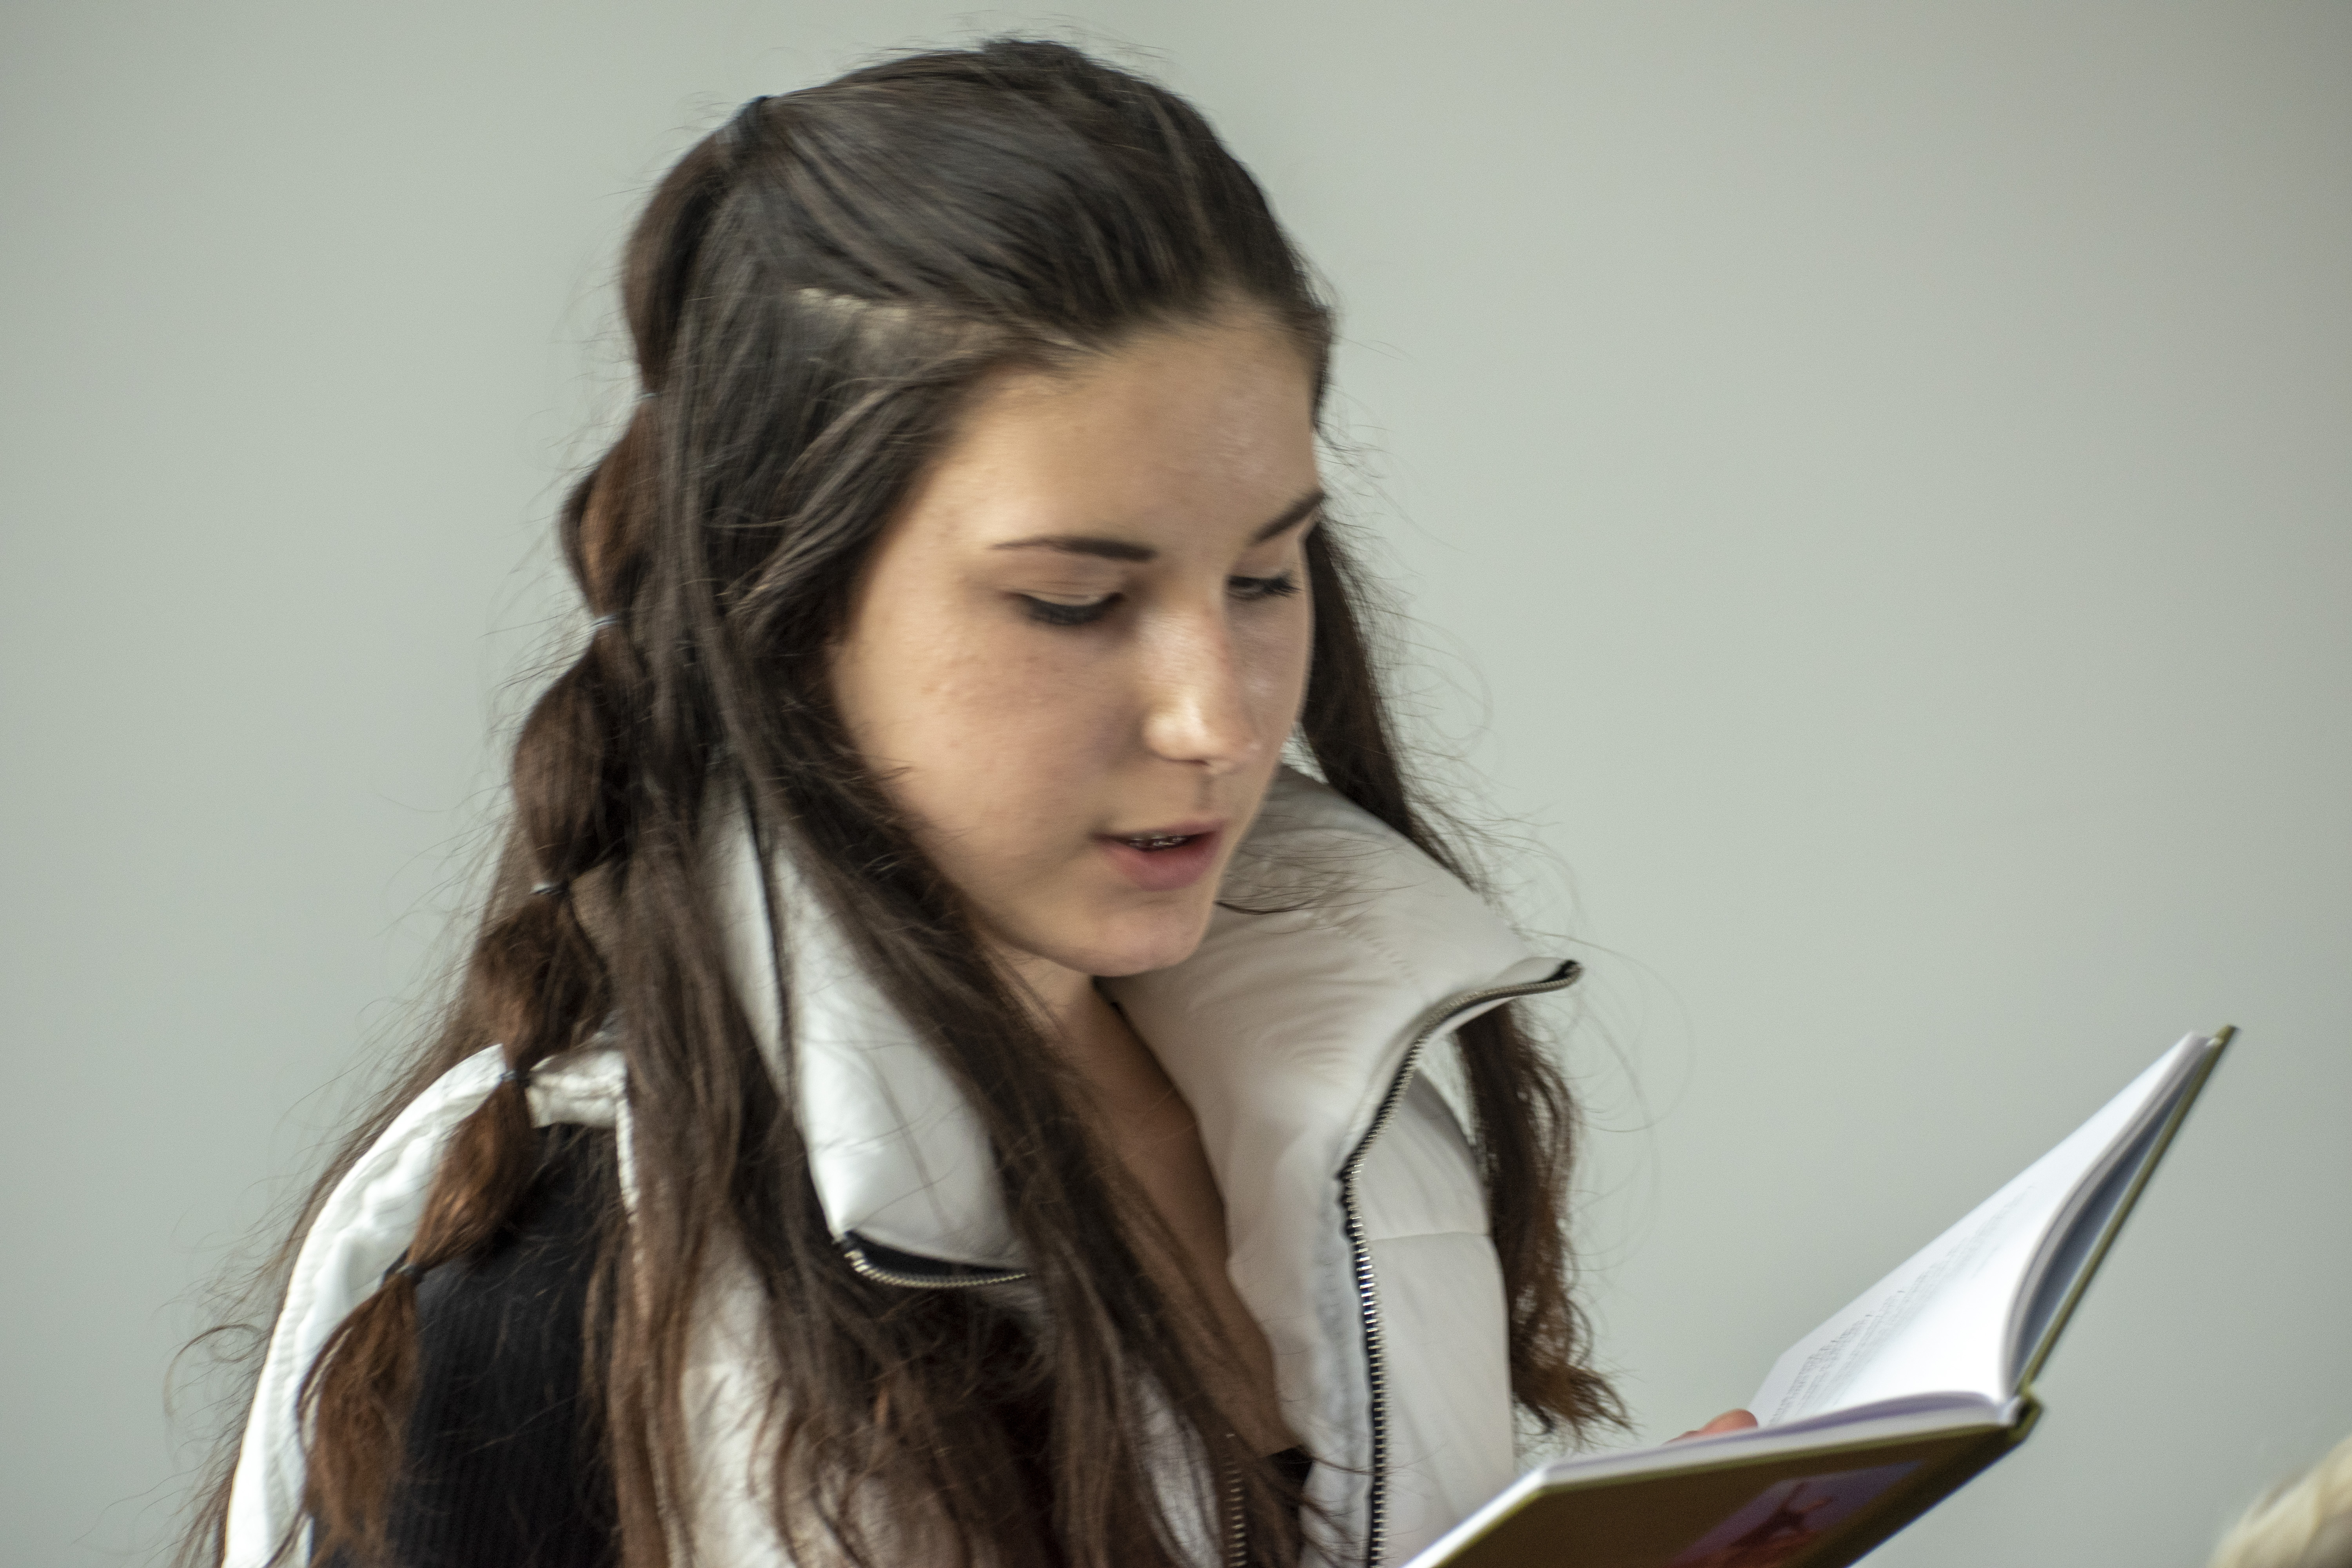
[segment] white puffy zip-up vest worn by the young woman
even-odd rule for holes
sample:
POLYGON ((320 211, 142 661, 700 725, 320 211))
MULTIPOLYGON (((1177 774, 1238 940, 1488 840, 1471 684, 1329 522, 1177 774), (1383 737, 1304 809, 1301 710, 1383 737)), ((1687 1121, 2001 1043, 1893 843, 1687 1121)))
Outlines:
MULTIPOLYGON (((802 917, 814 900, 790 867, 779 938, 750 835, 722 816, 708 837, 739 994, 769 1044, 771 964, 790 964, 802 1128, 851 1265, 901 1288, 1011 1288, 1021 1258, 971 1107, 842 933, 802 917)), ((1402 1563, 1515 1476, 1503 1281, 1454 1030, 1571 976, 1390 827, 1284 771, 1200 950, 1105 980, 1200 1124, 1232 1286, 1275 1352, 1282 1415, 1317 1460, 1310 1497, 1334 1521, 1310 1540, 1315 1568, 1402 1563)), ((303 1239, 238 1458, 230 1568, 261 1568, 301 1530, 301 1375, 409 1244, 442 1143, 499 1072, 487 1048, 435 1081, 303 1239)), ((621 1051, 555 1058, 529 1095, 541 1124, 614 1126, 633 1185, 621 1051)), ((722 1260, 687 1373, 696 1488, 677 1502, 675 1544, 696 1563, 793 1563, 753 1481, 757 1312, 722 1260)), ((1169 1476, 1167 1493, 1214 1488, 1169 1476)), ((1214 1528, 1195 1547, 1204 1568, 1223 1554, 1214 1528)))

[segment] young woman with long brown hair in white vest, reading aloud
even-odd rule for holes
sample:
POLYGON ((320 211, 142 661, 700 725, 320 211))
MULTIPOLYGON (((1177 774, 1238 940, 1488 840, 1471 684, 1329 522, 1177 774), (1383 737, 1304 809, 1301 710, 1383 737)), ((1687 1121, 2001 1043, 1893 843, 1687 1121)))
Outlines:
POLYGON ((755 99, 623 292, 590 630, 193 1554, 1374 1566, 1609 1420, 1573 964, 1404 783, 1331 317, 1200 115, 1042 42, 755 99))

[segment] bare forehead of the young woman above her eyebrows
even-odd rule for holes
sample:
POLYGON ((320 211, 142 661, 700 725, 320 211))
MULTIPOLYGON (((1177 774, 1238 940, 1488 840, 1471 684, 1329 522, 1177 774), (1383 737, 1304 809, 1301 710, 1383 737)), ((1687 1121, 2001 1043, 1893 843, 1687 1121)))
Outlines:
POLYGON ((1152 329, 1068 369, 993 376, 903 522, 934 541, 1087 527, 1169 545, 1249 534, 1310 489, 1305 355, 1244 317, 1152 329))

